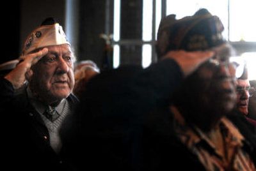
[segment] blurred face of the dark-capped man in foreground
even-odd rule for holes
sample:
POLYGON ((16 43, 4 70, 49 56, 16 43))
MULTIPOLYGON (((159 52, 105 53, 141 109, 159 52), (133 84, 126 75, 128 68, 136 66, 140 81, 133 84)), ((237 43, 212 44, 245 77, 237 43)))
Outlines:
POLYGON ((222 114, 230 112, 236 105, 235 75, 230 64, 207 62, 198 70, 202 79, 202 105, 222 114))

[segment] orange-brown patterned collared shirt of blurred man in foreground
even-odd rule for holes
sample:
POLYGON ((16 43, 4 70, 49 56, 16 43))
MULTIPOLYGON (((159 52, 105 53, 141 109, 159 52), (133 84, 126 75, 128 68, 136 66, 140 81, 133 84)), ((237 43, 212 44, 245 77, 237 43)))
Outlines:
POLYGON ((243 135, 227 117, 222 117, 216 129, 206 134, 195 125, 186 124, 177 108, 171 107, 171 110, 177 137, 198 157, 206 170, 256 170, 250 156, 243 150, 243 135))

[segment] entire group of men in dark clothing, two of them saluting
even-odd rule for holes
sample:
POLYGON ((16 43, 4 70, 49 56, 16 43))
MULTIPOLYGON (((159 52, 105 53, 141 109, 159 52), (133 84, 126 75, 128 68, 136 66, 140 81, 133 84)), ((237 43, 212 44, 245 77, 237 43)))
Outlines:
POLYGON ((45 19, 0 78, 8 170, 256 170, 254 89, 223 29, 206 9, 168 15, 157 63, 100 71, 45 19))

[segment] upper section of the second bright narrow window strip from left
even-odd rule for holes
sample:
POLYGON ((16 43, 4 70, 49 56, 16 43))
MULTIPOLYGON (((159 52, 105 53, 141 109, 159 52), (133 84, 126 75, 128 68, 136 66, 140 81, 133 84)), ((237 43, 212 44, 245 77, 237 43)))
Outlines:
POLYGON ((142 25, 142 40, 152 40, 152 12, 153 0, 143 0, 143 25, 142 25))

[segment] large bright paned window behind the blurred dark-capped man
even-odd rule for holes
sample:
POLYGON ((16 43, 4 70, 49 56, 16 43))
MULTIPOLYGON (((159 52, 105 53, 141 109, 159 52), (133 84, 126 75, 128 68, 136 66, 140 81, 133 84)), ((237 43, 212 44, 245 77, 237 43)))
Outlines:
MULTIPOLYGON (((256 58, 256 54, 252 53, 256 52, 256 22, 253 22, 253 17, 256 16, 255 0, 140 0, 140 3, 138 3, 138 0, 130 0, 129 5, 132 5, 132 3, 138 5, 139 7, 137 9, 141 10, 140 13, 137 13, 141 19, 136 20, 136 22, 140 21, 141 24, 135 23, 136 26, 141 27, 141 34, 138 34, 134 39, 129 39, 129 36, 126 39, 124 38, 125 36, 120 36, 122 29, 127 29, 121 26, 121 21, 123 20, 121 18, 123 16, 122 8, 127 5, 122 6, 122 3, 127 3, 127 1, 113 1, 114 68, 122 64, 120 57, 123 54, 126 53, 127 55, 130 53, 129 50, 125 51, 129 46, 133 50, 136 50, 136 54, 140 52, 141 59, 139 61, 141 61, 140 64, 144 68, 149 66, 150 63, 156 62, 154 44, 161 17, 173 13, 176 14, 177 19, 181 19, 187 15, 193 15, 200 8, 207 8, 212 15, 220 17, 225 27, 223 36, 234 45, 239 55, 250 59, 253 56, 256 58), (122 46, 126 47, 124 48, 122 46)), ((130 34, 130 36, 132 35, 130 34)), ((138 62, 138 57, 132 60, 138 62)))

